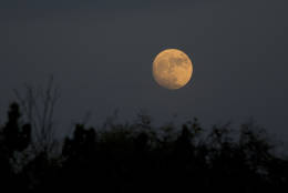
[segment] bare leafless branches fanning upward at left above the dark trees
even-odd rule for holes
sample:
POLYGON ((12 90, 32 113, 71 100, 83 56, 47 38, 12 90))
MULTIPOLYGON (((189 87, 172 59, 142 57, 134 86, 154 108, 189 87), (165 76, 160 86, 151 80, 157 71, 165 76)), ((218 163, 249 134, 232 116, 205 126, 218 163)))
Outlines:
POLYGON ((34 149, 37 151, 52 151, 54 142, 54 110, 60 99, 59 89, 51 75, 47 85, 24 85, 21 94, 14 90, 14 95, 23 110, 23 115, 33 128, 34 149))

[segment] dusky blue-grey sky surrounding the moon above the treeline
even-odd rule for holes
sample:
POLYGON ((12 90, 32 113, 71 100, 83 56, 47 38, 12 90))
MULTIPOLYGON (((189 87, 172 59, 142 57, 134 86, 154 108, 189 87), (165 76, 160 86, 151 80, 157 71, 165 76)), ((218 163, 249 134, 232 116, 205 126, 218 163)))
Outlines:
MULTIPOLYGON (((0 112, 24 83, 61 88, 56 120, 101 123, 145 110, 157 122, 255 120, 287 131, 288 2, 285 0, 1 0, 0 112), (194 55, 179 90, 152 77, 155 55, 194 55), (177 114, 177 118, 174 115, 177 114)), ((3 118, 3 116, 1 116, 3 118)), ((0 120, 3 122, 4 120, 0 120)), ((287 142, 287 141, 286 141, 287 142)))

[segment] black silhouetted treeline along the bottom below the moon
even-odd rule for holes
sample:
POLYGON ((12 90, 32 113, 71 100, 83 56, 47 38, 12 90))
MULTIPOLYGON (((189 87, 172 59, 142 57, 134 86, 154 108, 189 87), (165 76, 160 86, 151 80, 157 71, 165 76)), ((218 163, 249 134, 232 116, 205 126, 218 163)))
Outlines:
POLYGON ((253 122, 205 130, 153 128, 148 116, 94 130, 76 124, 55 148, 42 148, 12 103, 0 128, 0 192, 282 192, 288 161, 253 122))

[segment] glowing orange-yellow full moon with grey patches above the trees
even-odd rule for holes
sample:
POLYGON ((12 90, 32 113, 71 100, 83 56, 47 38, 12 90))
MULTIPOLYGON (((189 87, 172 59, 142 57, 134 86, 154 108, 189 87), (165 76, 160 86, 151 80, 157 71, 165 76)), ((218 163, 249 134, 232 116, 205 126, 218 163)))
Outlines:
POLYGON ((166 49, 160 52, 153 61, 155 81, 171 90, 183 88, 193 73, 193 64, 186 53, 177 49, 166 49))

